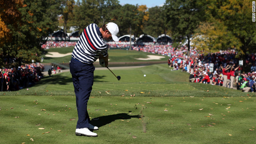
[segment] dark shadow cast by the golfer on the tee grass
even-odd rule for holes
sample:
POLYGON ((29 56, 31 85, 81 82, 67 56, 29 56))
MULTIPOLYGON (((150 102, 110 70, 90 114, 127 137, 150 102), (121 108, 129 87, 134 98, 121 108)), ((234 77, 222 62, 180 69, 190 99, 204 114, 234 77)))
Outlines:
POLYGON ((112 115, 108 115, 108 116, 100 116, 97 118, 93 118, 93 119, 98 119, 98 120, 92 120, 91 124, 94 126, 105 126, 106 124, 110 124, 111 122, 114 122, 115 120, 128 120, 131 118, 141 118, 141 115, 134 115, 134 116, 130 116, 126 113, 120 113, 120 114, 112 114, 112 115))

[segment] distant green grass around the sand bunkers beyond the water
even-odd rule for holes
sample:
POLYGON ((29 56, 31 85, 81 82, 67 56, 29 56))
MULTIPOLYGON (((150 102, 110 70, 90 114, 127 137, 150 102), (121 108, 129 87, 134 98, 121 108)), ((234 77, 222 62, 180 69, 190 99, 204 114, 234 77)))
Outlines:
MULTIPOLYGON (((46 54, 48 52, 59 52, 60 54, 66 54, 72 52, 74 47, 64 47, 64 48, 50 48, 45 51, 46 54)), ((109 62, 145 62, 145 60, 137 60, 136 58, 148 58, 147 55, 157 55, 158 54, 150 54, 146 52, 137 52, 137 51, 129 51, 129 50, 108 50, 109 54, 109 62)), ((61 58, 50 58, 46 57, 45 54, 42 55, 44 58, 44 63, 61 62, 68 63, 71 59, 70 56, 64 56, 61 58)), ((168 56, 164 56, 165 58, 161 58, 160 60, 146 60, 150 62, 158 62, 158 61, 166 61, 168 60, 168 56)))

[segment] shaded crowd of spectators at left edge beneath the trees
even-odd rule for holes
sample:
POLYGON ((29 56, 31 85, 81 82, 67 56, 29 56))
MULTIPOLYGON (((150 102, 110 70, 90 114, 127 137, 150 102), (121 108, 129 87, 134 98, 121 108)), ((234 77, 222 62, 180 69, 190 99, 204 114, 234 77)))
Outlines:
POLYGON ((15 91, 28 88, 42 77, 44 65, 32 63, 18 68, 0 68, 0 91, 15 91))

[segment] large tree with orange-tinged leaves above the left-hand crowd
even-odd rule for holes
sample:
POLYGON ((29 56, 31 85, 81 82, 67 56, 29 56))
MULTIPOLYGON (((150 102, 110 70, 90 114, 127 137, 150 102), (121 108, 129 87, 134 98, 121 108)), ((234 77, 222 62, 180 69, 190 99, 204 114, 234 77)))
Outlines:
POLYGON ((9 30, 3 42, 1 40, 2 66, 18 66, 22 63, 31 63, 32 60, 40 61, 41 45, 57 27, 59 2, 59 0, 25 0, 24 2, 10 0, 4 1, 4 5, 1 4, 4 6, 3 9, 10 10, 9 14, 1 10, 1 20, 9 30))

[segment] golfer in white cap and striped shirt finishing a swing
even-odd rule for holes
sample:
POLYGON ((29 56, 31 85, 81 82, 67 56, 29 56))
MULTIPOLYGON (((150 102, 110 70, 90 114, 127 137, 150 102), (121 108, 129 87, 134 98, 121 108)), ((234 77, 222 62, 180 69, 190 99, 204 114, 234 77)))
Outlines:
POLYGON ((118 26, 110 22, 99 28, 96 24, 90 24, 81 34, 70 60, 70 73, 76 94, 76 108, 78 121, 76 135, 98 136, 90 130, 98 130, 97 126, 90 124, 87 112, 87 102, 93 85, 95 67, 93 62, 98 58, 102 67, 108 66, 108 45, 104 40, 118 41, 118 26))

